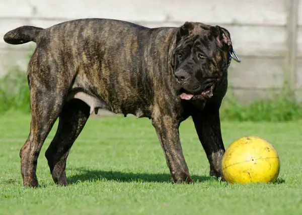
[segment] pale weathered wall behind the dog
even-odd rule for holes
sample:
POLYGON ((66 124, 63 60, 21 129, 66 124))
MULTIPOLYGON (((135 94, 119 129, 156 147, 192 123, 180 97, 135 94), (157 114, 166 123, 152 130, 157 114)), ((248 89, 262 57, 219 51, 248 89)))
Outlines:
MULTIPOLYGON (((288 80, 302 98, 302 3, 299 0, 0 0, 0 36, 22 25, 49 27, 79 18, 111 18, 148 27, 185 21, 220 25, 231 32, 242 63, 232 62, 230 88, 244 102, 280 90, 288 80), (299 14, 299 16, 298 16, 299 14)), ((26 70, 34 43, 0 40, 0 74, 13 66, 26 70)))

